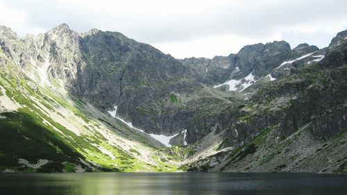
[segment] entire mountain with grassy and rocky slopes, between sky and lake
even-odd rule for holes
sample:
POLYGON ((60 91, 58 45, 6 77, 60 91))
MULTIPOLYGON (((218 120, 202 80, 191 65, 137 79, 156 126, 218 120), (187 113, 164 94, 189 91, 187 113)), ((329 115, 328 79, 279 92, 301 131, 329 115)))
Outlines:
POLYGON ((0 170, 346 173, 346 37, 178 60, 116 32, 0 26, 0 170))

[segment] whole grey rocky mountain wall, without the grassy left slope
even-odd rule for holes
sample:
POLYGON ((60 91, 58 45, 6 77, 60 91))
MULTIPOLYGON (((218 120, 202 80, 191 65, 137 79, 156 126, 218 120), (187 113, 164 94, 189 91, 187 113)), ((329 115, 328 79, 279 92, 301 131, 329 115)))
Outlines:
POLYGON ((178 133, 189 170, 346 172, 346 32, 324 49, 275 41, 176 60, 116 32, 61 24, 19 39, 0 26, 0 62, 145 133, 178 133))

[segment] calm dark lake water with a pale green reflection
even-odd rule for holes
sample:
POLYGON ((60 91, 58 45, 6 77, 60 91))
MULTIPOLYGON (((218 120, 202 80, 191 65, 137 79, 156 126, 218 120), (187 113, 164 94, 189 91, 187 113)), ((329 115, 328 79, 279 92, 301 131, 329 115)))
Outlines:
POLYGON ((0 194, 347 194, 346 175, 0 173, 0 194))

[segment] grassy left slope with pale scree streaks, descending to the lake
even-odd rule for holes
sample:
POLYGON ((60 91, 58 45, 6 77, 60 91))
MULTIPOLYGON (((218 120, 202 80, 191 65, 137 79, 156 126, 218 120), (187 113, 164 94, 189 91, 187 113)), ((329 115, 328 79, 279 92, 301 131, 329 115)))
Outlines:
POLYGON ((1 111, 0 171, 177 171, 175 163, 143 160, 156 150, 150 142, 119 121, 110 126, 85 112, 83 100, 36 85, 16 65, 0 68, 0 86, 6 93, 1 95, 20 105, 1 111), (19 164, 19 158, 49 163, 33 169, 19 164))

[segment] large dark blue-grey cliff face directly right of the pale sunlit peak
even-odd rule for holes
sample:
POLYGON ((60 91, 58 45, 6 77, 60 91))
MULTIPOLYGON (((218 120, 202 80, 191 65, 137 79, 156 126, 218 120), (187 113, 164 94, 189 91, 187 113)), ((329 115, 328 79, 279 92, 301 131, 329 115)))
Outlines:
POLYGON ((171 94, 196 90, 191 69, 121 33, 89 33, 81 37, 80 49, 85 66, 78 71, 81 92, 76 95, 102 110, 117 105, 117 115, 147 133, 172 135, 183 130, 180 122, 161 112, 167 111, 162 108, 171 94))

